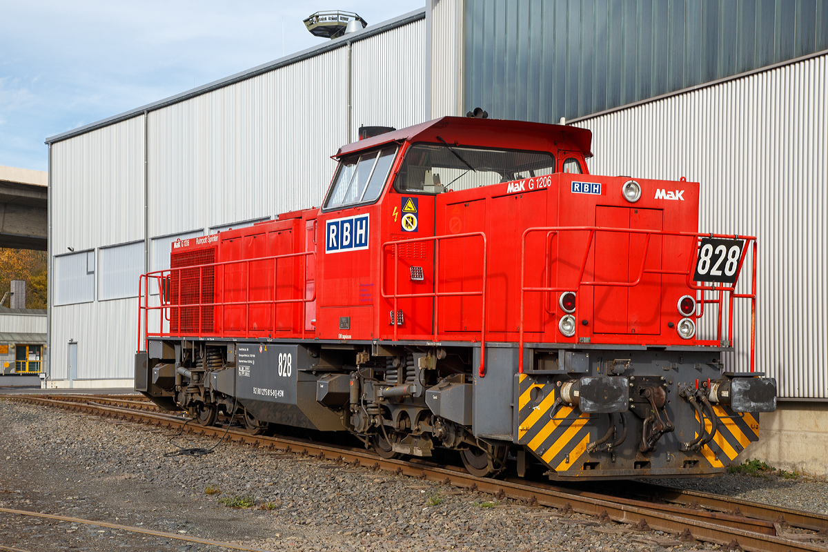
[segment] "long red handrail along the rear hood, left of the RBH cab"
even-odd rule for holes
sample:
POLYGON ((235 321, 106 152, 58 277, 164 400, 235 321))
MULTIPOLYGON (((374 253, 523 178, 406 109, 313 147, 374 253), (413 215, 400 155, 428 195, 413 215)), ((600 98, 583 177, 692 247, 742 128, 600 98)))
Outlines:
MULTIPOLYGON (((244 305, 246 314, 245 314, 245 324, 244 324, 244 335, 243 335, 243 337, 247 338, 247 337, 251 337, 250 336, 250 305, 272 305, 272 307, 273 307, 273 320, 274 320, 274 326, 273 327, 275 328, 276 327, 276 325, 275 325, 276 305, 282 305, 282 304, 287 304, 287 303, 311 303, 311 302, 316 300, 316 287, 315 286, 314 286, 313 294, 312 294, 311 297, 303 297, 301 299, 277 300, 276 299, 277 274, 278 274, 277 263, 278 263, 279 259, 286 259, 286 258, 291 258, 291 257, 302 257, 302 259, 304 261, 303 269, 304 269, 304 272, 305 272, 305 286, 301 286, 301 293, 305 294, 306 290, 307 290, 307 266, 308 266, 307 257, 309 257, 309 256, 313 256, 314 261, 315 261, 316 253, 313 252, 313 251, 308 251, 308 252, 298 252, 298 253, 287 253, 285 255, 272 255, 270 257, 256 257, 256 258, 253 258, 253 259, 243 259, 243 260, 240 260, 240 261, 211 262, 211 263, 207 263, 207 264, 203 264, 203 265, 180 266, 180 267, 177 267, 177 268, 171 268, 171 269, 166 269, 166 270, 162 270, 162 271, 152 271, 152 272, 147 272, 147 274, 142 274, 140 276, 140 278, 138 279, 138 343, 137 343, 138 351, 139 352, 141 351, 141 343, 142 343, 142 327, 141 327, 141 312, 142 311, 143 311, 143 314, 144 314, 143 315, 143 319, 144 319, 143 341, 144 341, 144 347, 145 347, 144 350, 146 350, 148 338, 150 338, 151 336, 152 337, 166 337, 166 336, 171 336, 172 335, 171 332, 164 332, 164 320, 165 319, 167 319, 167 320, 171 319, 170 315, 171 315, 172 310, 177 311, 177 314, 178 314, 177 319, 178 319, 178 324, 179 324, 178 328, 179 328, 179 333, 181 333, 181 309, 182 308, 192 308, 192 309, 197 309, 198 310, 198 313, 199 313, 199 322, 198 322, 199 330, 198 330, 198 336, 197 337, 203 337, 203 336, 206 335, 204 333, 204 329, 202 327, 202 314, 204 312, 205 307, 220 307, 221 316, 219 318, 221 319, 221 330, 223 330, 224 329, 224 309, 228 306, 244 305), (273 300, 255 300, 255 301, 251 301, 250 300, 250 263, 251 262, 262 262, 262 261, 272 261, 273 262, 273 300), (245 289, 244 289, 244 294, 245 294, 245 299, 246 300, 244 300, 244 301, 224 301, 223 300, 223 301, 217 302, 217 301, 215 301, 215 293, 216 293, 215 290, 216 290, 216 287, 218 287, 218 286, 215 286, 215 284, 214 284, 214 298, 213 298, 213 301, 209 302, 209 303, 205 302, 204 301, 204 295, 203 295, 204 294, 204 285, 203 284, 204 284, 204 271, 205 271, 205 268, 217 267, 217 266, 221 266, 221 267, 224 268, 224 266, 241 265, 241 264, 244 265, 245 271, 247 272, 246 286, 245 286, 245 289), (182 287, 181 286, 181 271, 187 271, 187 270, 191 271, 191 270, 194 270, 194 269, 199 270, 198 303, 193 303, 193 304, 188 304, 188 305, 181 305, 181 287, 182 287), (160 303, 160 305, 150 306, 149 305, 149 301, 150 301, 149 281, 150 281, 150 279, 156 280, 157 285, 159 287, 161 287, 161 286, 165 285, 164 281, 166 280, 166 278, 171 277, 173 272, 176 272, 178 274, 178 279, 179 279, 179 285, 178 285, 178 290, 177 290, 177 295, 178 295, 177 302, 174 304, 172 302, 171 297, 165 297, 164 295, 166 295, 166 294, 161 294, 159 292, 159 303, 160 303), (143 288, 143 290, 142 290, 142 288, 143 288), (158 310, 159 311, 159 319, 158 319, 159 329, 158 329, 157 332, 149 331, 149 321, 150 321, 149 320, 149 311, 151 311, 151 310, 158 310), (165 313, 167 314, 167 316, 165 316, 165 313)), ((225 270, 221 270, 222 285, 220 286, 220 289, 223 290, 223 291, 224 291, 224 273, 225 273, 225 270)), ((215 281, 215 274, 214 274, 214 281, 215 281)), ((305 332, 305 314, 306 314, 305 309, 302 309, 301 310, 301 316, 300 316, 299 333, 304 333, 305 332)), ((222 333, 221 330, 219 330, 218 334, 222 333)), ((212 336, 212 335, 217 335, 217 334, 214 332, 214 333, 209 334, 209 335, 212 336)))

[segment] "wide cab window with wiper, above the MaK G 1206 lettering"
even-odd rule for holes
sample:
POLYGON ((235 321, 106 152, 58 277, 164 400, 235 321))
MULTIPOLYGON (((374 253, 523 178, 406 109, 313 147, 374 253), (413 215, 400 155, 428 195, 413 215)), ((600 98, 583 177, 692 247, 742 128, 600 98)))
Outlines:
POLYGON ((553 172, 555 158, 545 151, 416 144, 408 148, 394 187, 401 192, 440 194, 553 172))

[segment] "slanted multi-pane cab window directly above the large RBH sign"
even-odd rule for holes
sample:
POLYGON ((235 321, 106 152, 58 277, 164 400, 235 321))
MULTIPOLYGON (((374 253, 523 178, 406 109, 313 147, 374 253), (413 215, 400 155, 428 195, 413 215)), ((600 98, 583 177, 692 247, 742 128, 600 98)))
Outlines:
POLYGON ((388 170, 397 153, 397 145, 343 157, 330 187, 325 209, 373 203, 383 191, 388 170))

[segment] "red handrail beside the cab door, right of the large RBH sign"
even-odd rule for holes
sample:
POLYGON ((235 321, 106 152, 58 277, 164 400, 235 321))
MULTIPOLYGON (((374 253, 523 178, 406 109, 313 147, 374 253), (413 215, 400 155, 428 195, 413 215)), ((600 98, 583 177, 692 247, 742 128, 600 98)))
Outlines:
POLYGON ((380 268, 379 268, 379 274, 380 274, 380 278, 381 278, 380 284, 379 284, 379 293, 380 293, 380 295, 382 295, 383 299, 392 299, 393 300, 393 304, 394 304, 394 312, 393 312, 393 315, 394 315, 394 319, 393 319, 394 331, 393 331, 393 338, 392 338, 393 341, 398 341, 398 338, 397 338, 397 335, 398 335, 397 334, 397 327, 399 325, 399 324, 397 324, 397 320, 398 320, 397 319, 397 316, 398 316, 398 314, 397 314, 397 312, 398 312, 397 300, 398 299, 411 299, 411 298, 414 298, 414 297, 432 297, 432 298, 435 299, 435 301, 434 301, 434 312, 431 315, 431 318, 432 318, 431 319, 431 323, 432 323, 431 329, 433 330, 432 331, 432 339, 435 342, 437 342, 437 341, 440 341, 441 339, 440 339, 440 332, 439 332, 439 329, 437 327, 437 324, 439 323, 439 320, 440 320, 438 318, 438 315, 437 315, 438 310, 439 310, 440 301, 436 300, 436 299, 438 297, 457 297, 457 296, 463 296, 463 295, 480 295, 482 297, 481 302, 483 303, 483 312, 480 315, 480 366, 479 366, 479 375, 480 375, 480 377, 484 377, 485 376, 485 363, 486 363, 486 360, 485 360, 486 359, 486 276, 487 276, 487 271, 488 271, 488 268, 489 268, 488 265, 487 265, 487 262, 486 262, 488 247, 489 247, 489 245, 488 245, 488 242, 486 240, 486 234, 483 233, 483 232, 469 232, 469 233, 462 233, 462 234, 452 234, 452 235, 447 235, 447 236, 430 236, 430 237, 427 237, 427 238, 411 238, 411 239, 399 240, 397 242, 384 242, 383 247, 382 247, 382 254, 381 254, 380 268), (449 239, 457 239, 457 238, 472 238, 474 236, 479 236, 480 238, 483 238, 483 271, 482 271, 483 282, 482 282, 481 290, 479 290, 479 291, 440 291, 439 287, 438 287, 438 283, 439 283, 440 278, 436 277, 435 281, 434 281, 434 291, 432 291, 431 293, 406 293, 406 294, 399 293, 399 290, 397 289, 397 283, 398 283, 398 280, 399 280, 398 279, 399 272, 398 272, 397 269, 398 269, 399 264, 400 264, 399 263, 399 260, 400 260, 399 246, 401 244, 414 243, 414 242, 434 242, 434 272, 435 272, 436 275, 439 275, 440 274, 440 271, 439 271, 440 241, 449 240, 449 239), (386 291, 385 291, 385 248, 388 247, 388 246, 393 246, 394 247, 394 259, 396 260, 396 262, 394 262, 394 291, 393 291, 392 294, 387 294, 386 291))

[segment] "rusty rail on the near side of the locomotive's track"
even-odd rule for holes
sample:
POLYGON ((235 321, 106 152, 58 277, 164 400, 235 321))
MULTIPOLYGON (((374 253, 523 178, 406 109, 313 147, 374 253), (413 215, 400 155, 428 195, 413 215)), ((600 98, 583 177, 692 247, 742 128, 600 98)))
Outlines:
MULTIPOLYGON (((173 425, 185 425, 187 419, 180 416, 150 413, 131 408, 118 406, 83 405, 75 402, 60 403, 52 399, 43 399, 38 396, 9 396, 9 399, 34 402, 48 406, 63 406, 70 410, 86 408, 91 412, 105 415, 114 415, 121 419, 147 420, 156 426, 166 424, 167 428, 173 425)), ((298 439, 282 437, 253 436, 238 430, 227 430, 215 426, 189 426, 188 434, 200 436, 221 437, 238 444, 250 444, 253 447, 279 450, 283 454, 296 453, 301 456, 313 456, 320 460, 333 460, 335 463, 348 464, 353 467, 363 466, 372 470, 383 469, 398 475, 407 475, 413 478, 441 482, 445 485, 460 487, 471 491, 493 494, 498 499, 513 498, 530 505, 551 506, 562 511, 576 511, 588 516, 598 516, 599 520, 612 520, 619 523, 631 524, 638 530, 662 530, 665 533, 681 535, 681 538, 703 540, 710 543, 739 546, 742 550, 757 552, 828 552, 828 547, 814 545, 800 540, 787 539, 784 535, 768 535, 755 530, 746 530, 745 526, 763 526, 749 522, 747 518, 739 526, 727 526, 729 518, 725 516, 703 516, 698 511, 688 515, 684 509, 675 511, 673 508, 663 508, 663 505, 629 499, 619 500, 616 497, 580 492, 578 490, 553 487, 541 482, 517 482, 514 480, 497 480, 476 478, 459 468, 439 468, 427 465, 421 461, 405 462, 402 460, 386 460, 377 455, 358 449, 344 449, 333 445, 309 443, 298 439)), ((700 493, 703 494, 703 493, 700 493)), ((734 499, 720 497, 724 502, 734 503, 734 499)), ((756 505, 758 509, 767 507, 756 505)), ((802 519, 811 516, 808 512, 798 512, 802 519)), ((818 516, 818 515, 816 515, 818 516)), ((787 519, 787 518, 786 518, 787 519)), ((792 519, 792 518, 791 518, 792 519)), ((787 521, 791 523, 791 521, 787 521)), ((776 528, 776 527, 774 527, 776 528)), ((776 531, 774 531, 776 532, 776 531)))

